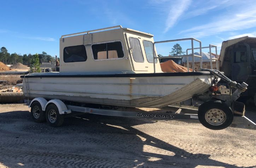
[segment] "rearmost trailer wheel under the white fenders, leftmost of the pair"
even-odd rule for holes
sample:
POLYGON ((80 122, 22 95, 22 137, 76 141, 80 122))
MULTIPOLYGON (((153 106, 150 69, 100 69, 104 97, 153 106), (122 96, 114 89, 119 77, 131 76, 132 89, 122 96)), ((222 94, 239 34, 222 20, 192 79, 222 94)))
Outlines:
POLYGON ((45 121, 45 112, 42 110, 41 104, 38 101, 34 101, 31 104, 31 117, 35 122, 45 121))

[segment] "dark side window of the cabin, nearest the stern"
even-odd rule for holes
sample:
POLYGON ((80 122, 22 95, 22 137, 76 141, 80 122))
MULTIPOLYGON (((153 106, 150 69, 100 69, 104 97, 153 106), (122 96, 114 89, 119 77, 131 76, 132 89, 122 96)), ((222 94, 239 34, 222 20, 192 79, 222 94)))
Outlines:
POLYGON ((84 45, 69 46, 63 50, 64 62, 82 62, 87 60, 87 54, 84 45))

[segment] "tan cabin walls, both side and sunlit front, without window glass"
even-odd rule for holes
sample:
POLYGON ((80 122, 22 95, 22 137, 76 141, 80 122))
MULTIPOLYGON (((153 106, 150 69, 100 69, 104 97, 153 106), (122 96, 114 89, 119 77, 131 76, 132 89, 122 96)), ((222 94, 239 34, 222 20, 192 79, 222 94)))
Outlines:
MULTIPOLYGON (((87 35, 87 34, 86 34, 87 35)), ((114 29, 108 31, 100 31, 91 34, 92 42, 86 44, 87 60, 83 62, 64 62, 63 50, 65 47, 78 46, 84 44, 84 35, 76 35, 71 37, 60 38, 60 72, 117 72, 117 73, 152 73, 153 63, 146 59, 146 54, 143 46, 143 40, 153 41, 152 35, 146 33, 127 30, 127 29, 114 29), (126 40, 127 36, 127 40, 126 40), (144 62, 135 62, 132 53, 129 51, 129 37, 138 38, 141 45, 144 62), (113 58, 105 60, 94 60, 92 53, 92 44, 102 42, 121 41, 124 51, 123 58, 113 58)), ((156 53, 157 55, 157 53, 156 53)), ((114 57, 114 56, 113 56, 114 57)), ((155 64, 156 72, 162 72, 159 61, 155 64)))

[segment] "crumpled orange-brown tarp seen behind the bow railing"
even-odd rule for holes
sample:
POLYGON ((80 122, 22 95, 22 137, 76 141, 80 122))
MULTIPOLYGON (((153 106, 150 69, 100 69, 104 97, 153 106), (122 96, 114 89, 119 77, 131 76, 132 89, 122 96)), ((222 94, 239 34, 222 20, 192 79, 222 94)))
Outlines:
MULTIPOLYGON (((166 62, 160 63, 163 72, 187 72, 187 68, 176 64, 173 60, 168 60, 166 62)), ((189 69, 192 72, 192 69, 189 69)))

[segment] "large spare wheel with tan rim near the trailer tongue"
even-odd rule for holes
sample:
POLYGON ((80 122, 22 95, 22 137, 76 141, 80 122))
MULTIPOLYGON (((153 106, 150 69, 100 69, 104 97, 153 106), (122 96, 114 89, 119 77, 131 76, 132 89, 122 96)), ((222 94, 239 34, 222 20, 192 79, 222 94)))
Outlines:
POLYGON ((233 112, 221 101, 208 101, 199 106, 198 119, 206 128, 222 130, 232 123, 233 112))

